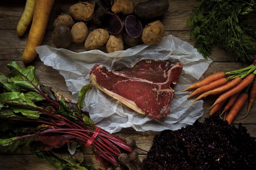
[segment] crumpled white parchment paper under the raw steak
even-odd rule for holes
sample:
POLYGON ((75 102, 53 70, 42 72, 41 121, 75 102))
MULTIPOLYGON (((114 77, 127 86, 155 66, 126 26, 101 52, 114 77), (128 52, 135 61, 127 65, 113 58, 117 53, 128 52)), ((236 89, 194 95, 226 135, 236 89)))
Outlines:
POLYGON ((203 101, 188 107, 193 99, 187 99, 188 92, 180 92, 180 90, 202 78, 212 61, 204 59, 196 48, 173 35, 163 37, 159 43, 137 45, 110 54, 100 50, 76 53, 47 45, 36 47, 36 51, 45 65, 53 67, 64 76, 66 85, 72 92, 73 102, 77 101, 82 86, 90 83, 89 73, 96 64, 103 64, 112 70, 123 66, 130 67, 141 58, 154 58, 171 59, 183 65, 183 72, 174 88, 174 98, 168 116, 160 120, 134 112, 96 88, 89 91, 85 98, 84 110, 90 113, 97 126, 110 133, 128 127, 137 131, 177 130, 193 124, 203 115, 203 101))

